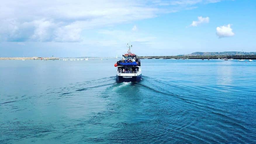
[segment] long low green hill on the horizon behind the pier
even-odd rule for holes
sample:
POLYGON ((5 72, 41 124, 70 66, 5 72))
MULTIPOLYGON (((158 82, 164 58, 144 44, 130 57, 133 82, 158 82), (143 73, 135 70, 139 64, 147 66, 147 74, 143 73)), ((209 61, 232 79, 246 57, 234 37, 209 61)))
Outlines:
POLYGON ((256 55, 256 52, 193 52, 180 56, 256 55))

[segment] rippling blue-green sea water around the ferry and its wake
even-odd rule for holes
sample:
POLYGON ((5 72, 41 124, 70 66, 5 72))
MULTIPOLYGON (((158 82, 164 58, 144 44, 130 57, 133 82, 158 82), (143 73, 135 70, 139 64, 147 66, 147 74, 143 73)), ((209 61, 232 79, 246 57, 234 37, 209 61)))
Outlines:
POLYGON ((0 143, 255 143, 255 61, 116 61, 0 61, 0 143))

